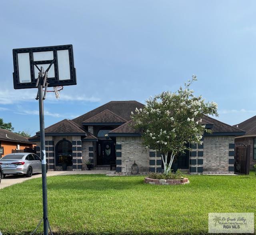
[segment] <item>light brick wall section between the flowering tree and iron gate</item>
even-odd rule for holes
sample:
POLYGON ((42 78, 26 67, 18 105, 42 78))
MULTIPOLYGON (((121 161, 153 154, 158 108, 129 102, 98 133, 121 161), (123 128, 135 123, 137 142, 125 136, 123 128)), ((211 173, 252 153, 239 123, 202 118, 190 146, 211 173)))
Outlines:
POLYGON ((204 136, 203 173, 234 173, 234 136, 204 136))

